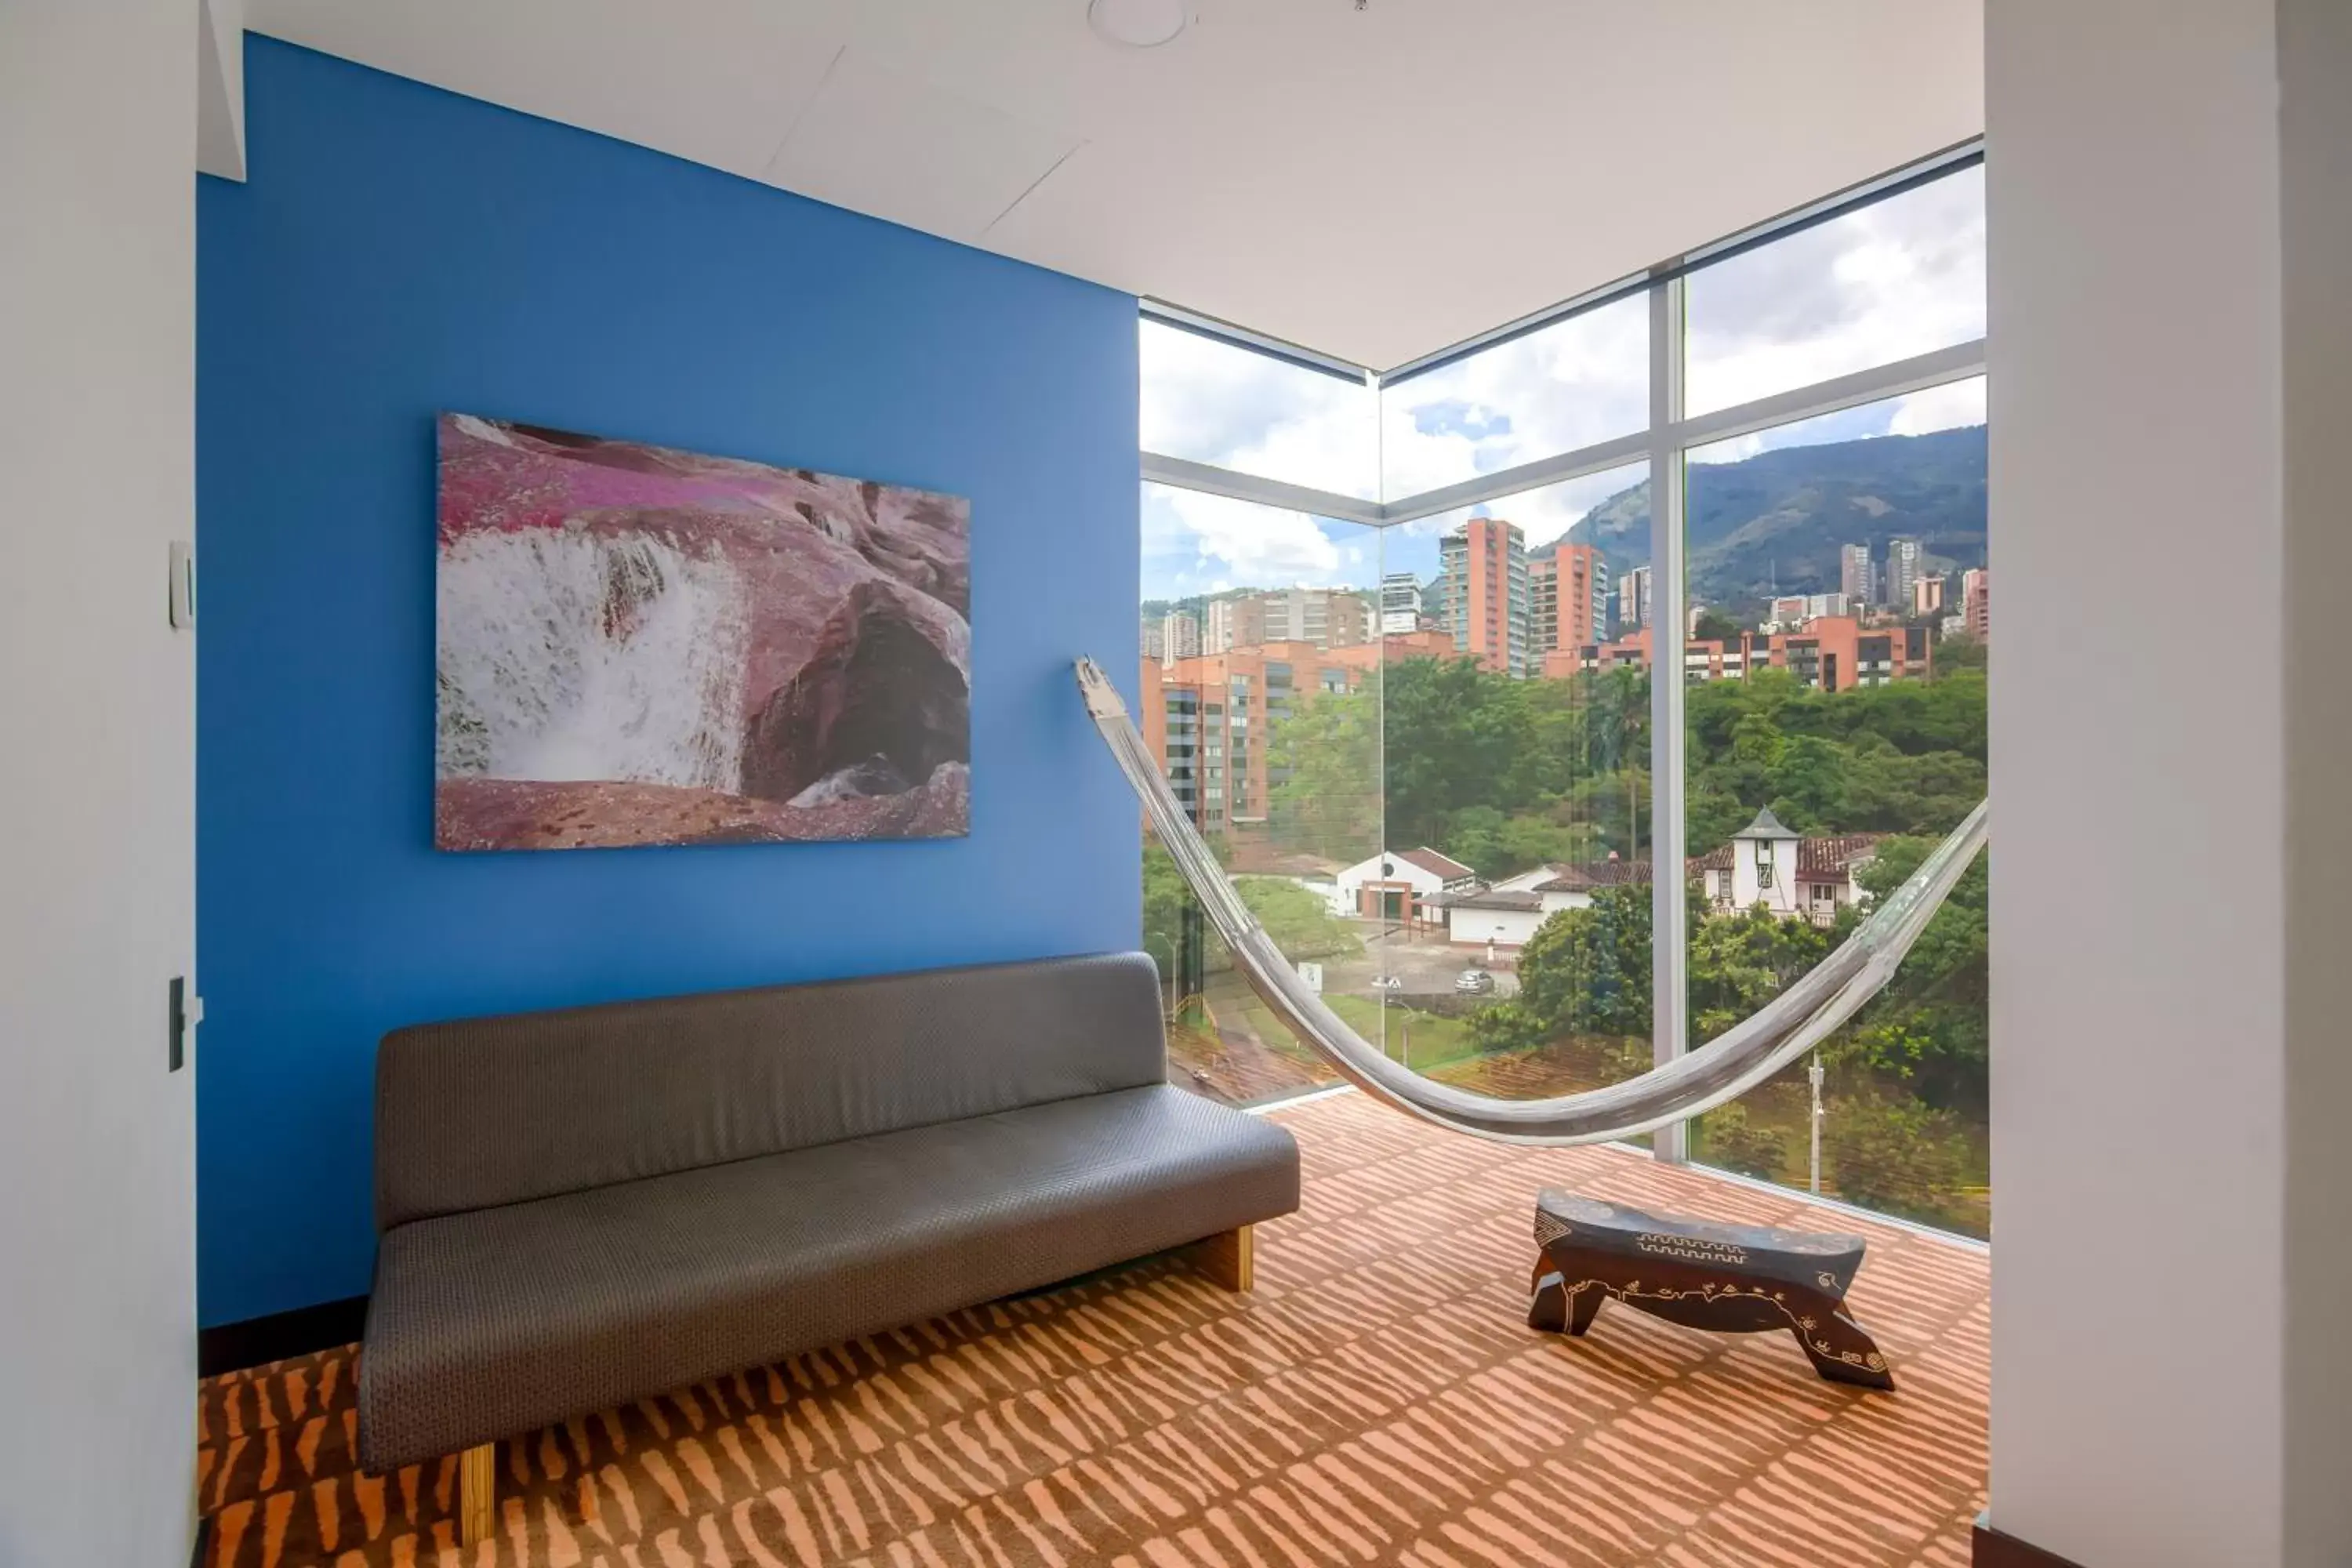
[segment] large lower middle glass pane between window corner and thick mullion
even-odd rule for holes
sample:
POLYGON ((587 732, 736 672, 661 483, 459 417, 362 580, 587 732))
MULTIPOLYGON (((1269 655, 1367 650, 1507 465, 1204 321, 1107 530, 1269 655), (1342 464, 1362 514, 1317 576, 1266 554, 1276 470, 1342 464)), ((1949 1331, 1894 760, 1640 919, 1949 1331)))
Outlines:
POLYGON ((1428 614, 1388 646, 1381 945, 1430 1077, 1538 1098, 1651 1063, 1649 672, 1613 592, 1646 552, 1646 465, 1390 529, 1428 614))

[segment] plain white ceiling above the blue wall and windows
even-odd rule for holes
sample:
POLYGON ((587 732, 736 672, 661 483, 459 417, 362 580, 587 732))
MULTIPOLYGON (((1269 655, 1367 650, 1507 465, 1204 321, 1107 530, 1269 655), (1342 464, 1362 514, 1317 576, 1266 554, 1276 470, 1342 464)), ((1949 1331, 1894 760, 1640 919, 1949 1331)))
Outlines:
MULTIPOLYGON (((1983 127, 1980 0, 247 0, 259 33, 1390 367, 1983 127)), ((266 153, 266 150, 263 150, 266 153)))

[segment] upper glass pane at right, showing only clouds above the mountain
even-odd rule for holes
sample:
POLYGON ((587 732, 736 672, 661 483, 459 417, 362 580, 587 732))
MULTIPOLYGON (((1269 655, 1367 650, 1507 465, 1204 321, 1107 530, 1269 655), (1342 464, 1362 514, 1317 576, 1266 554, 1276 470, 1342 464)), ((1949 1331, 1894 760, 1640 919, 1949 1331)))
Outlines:
POLYGON ((1985 169, 1872 202, 1684 284, 1684 411, 1985 336, 1985 169))

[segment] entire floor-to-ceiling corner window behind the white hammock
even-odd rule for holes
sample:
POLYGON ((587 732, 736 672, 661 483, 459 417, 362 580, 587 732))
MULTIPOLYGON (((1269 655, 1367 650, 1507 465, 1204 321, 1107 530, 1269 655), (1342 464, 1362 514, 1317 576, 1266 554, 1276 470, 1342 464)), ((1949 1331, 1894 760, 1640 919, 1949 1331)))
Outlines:
MULTIPOLYGON (((1148 315, 1145 733, 1367 1039, 1484 1093, 1630 1077, 1983 797, 1983 320, 1969 148, 1385 374, 1148 315)), ((1985 875, 1656 1150, 1980 1232, 1985 875)), ((1145 900, 1195 1086, 1331 1079, 1155 846, 1145 900)))

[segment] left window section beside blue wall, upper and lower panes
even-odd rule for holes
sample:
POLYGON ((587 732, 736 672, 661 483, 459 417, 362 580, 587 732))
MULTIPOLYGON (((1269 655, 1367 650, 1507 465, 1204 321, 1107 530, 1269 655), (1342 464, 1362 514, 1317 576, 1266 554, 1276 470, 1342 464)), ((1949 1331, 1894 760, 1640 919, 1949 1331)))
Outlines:
MULTIPOLYGON (((1284 957, 1378 1037, 1376 922, 1343 872, 1381 849, 1383 529, 1282 503, 1282 487, 1378 494, 1374 388, 1157 320, 1141 331, 1143 447, 1188 482, 1143 487, 1138 729, 1284 957), (1204 489, 1216 475, 1263 482, 1261 498, 1204 489)), ((1247 1105, 1336 1081, 1235 973, 1150 832, 1143 943, 1183 1084, 1247 1105)))

